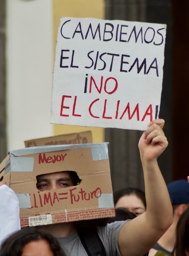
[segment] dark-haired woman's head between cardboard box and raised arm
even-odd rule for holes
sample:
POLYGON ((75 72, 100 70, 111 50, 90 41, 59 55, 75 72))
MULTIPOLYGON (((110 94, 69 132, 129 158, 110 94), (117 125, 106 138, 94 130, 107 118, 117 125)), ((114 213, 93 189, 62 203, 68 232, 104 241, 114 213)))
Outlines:
POLYGON ((115 208, 124 208, 136 216, 146 212, 145 193, 138 188, 122 188, 113 194, 115 208))

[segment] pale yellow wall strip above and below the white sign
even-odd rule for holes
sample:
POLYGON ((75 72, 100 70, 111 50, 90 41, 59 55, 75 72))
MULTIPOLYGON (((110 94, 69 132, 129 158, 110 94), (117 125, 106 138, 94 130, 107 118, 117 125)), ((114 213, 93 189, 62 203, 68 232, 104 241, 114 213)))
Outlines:
MULTIPOLYGON (((56 49, 57 31, 61 16, 64 17, 93 17, 104 19, 105 0, 53 0, 53 20, 54 20, 54 55, 56 49)), ((104 141, 104 129, 98 127, 81 127, 54 125, 54 135, 74 133, 91 130, 93 142, 104 141)))

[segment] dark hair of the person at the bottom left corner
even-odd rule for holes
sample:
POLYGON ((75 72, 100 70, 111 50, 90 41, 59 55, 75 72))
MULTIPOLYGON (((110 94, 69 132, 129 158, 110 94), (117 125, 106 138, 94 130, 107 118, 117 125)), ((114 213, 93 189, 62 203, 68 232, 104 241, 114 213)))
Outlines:
POLYGON ((23 247, 32 241, 45 240, 54 256, 65 256, 57 239, 43 229, 23 228, 7 237, 0 248, 0 256, 20 256, 23 247))

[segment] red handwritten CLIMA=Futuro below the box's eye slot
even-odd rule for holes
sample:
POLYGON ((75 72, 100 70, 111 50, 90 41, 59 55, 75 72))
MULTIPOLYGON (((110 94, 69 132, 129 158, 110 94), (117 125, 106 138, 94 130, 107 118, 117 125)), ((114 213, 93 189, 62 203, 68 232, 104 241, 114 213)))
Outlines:
POLYGON ((98 187, 92 192, 85 192, 82 188, 71 188, 69 192, 65 193, 37 193, 30 194, 33 196, 34 205, 31 208, 38 208, 44 206, 53 206, 55 203, 60 203, 62 200, 68 201, 68 203, 74 204, 80 201, 88 201, 94 198, 99 198, 102 195, 101 189, 98 187))

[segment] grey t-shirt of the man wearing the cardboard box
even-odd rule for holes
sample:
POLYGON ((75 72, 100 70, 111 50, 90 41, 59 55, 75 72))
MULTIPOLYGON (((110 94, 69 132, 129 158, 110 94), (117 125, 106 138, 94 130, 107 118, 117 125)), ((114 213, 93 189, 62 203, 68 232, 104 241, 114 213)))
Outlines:
MULTIPOLYGON (((97 228, 99 237, 104 244, 108 256, 120 256, 118 247, 119 231, 126 222, 127 221, 115 221, 106 226, 97 228)), ((58 241, 66 256, 87 256, 77 232, 68 237, 59 237, 58 241)))

